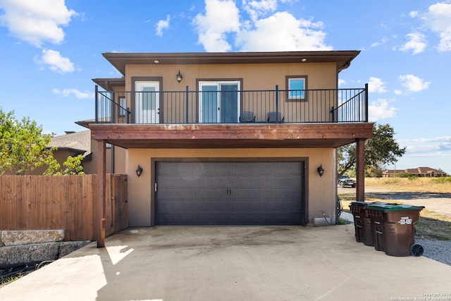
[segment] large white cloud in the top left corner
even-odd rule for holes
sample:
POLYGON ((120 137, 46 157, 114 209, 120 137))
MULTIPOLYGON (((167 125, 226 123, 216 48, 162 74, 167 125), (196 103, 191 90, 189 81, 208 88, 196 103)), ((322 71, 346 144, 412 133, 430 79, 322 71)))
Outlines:
POLYGON ((68 25, 77 13, 68 10, 64 0, 1 0, 0 24, 8 27, 14 37, 41 47, 44 41, 53 44, 63 42, 61 26, 68 25))

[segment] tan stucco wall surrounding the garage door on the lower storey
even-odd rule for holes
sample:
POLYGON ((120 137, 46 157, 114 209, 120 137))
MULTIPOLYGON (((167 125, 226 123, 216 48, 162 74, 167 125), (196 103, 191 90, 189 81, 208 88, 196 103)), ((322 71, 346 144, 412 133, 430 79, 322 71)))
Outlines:
MULTIPOLYGON (((128 208, 130 226, 150 226, 152 198, 152 159, 158 158, 306 158, 306 199, 309 222, 314 217, 335 214, 335 149, 128 149, 126 173, 128 177, 128 208), (136 176, 137 165, 143 168, 136 176), (320 178, 316 168, 323 164, 320 178)), ((152 199, 152 202, 154 200, 152 199)))

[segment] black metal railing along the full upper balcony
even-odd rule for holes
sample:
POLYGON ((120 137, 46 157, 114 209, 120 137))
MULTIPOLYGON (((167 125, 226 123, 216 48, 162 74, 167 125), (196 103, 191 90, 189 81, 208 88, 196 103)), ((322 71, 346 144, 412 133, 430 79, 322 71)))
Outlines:
POLYGON ((95 123, 362 123, 368 85, 357 89, 99 91, 95 123))

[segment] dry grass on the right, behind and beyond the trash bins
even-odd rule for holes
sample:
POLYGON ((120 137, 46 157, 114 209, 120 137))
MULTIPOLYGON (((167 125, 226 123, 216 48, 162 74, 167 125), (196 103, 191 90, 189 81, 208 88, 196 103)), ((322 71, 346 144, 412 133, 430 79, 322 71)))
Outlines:
MULTIPOLYGON (((365 178, 365 188, 378 188, 390 192, 435 192, 451 193, 450 180, 431 178, 365 178)), ((349 205, 355 201, 352 193, 339 194, 342 208, 349 212, 349 205)), ((379 199, 366 196, 366 202, 402 203, 395 199, 379 199)), ((438 240, 451 240, 451 216, 424 209, 421 219, 415 223, 416 235, 438 240)))

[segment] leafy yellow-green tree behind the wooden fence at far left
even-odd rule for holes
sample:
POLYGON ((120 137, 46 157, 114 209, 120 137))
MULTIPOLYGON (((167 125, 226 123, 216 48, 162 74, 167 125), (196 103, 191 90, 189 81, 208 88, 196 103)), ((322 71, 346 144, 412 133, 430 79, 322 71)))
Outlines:
POLYGON ((11 171, 20 175, 55 161, 47 147, 51 137, 42 134, 42 127, 30 118, 16 120, 14 111, 0 108, 0 175, 11 171))

